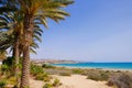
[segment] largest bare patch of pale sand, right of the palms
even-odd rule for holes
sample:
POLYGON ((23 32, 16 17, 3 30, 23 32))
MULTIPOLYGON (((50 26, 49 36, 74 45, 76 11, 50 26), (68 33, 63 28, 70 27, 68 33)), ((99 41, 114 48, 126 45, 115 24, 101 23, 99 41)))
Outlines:
POLYGON ((73 75, 70 77, 55 76, 63 84, 59 88, 112 88, 106 85, 106 81, 95 81, 87 79, 86 76, 73 75))

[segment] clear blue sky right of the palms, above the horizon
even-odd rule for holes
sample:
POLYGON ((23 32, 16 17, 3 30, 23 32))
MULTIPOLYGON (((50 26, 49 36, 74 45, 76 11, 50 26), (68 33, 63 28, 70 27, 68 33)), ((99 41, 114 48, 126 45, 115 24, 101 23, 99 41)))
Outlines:
POLYGON ((32 58, 132 62, 132 0, 75 0, 61 23, 50 21, 32 58))

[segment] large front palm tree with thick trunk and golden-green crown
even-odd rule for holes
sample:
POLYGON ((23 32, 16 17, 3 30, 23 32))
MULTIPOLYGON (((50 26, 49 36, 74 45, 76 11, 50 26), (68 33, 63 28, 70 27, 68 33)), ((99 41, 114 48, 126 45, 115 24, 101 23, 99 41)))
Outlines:
POLYGON ((21 88, 29 87, 30 76, 30 46, 33 40, 34 23, 47 26, 47 18, 58 22, 64 20, 65 15, 69 15, 62 8, 73 3, 70 0, 11 0, 15 3, 19 13, 23 14, 23 61, 22 61, 22 77, 21 88))

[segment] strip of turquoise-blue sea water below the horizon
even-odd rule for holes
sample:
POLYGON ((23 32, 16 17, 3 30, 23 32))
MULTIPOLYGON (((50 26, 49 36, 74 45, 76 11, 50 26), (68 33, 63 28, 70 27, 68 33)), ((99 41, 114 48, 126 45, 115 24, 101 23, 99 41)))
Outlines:
POLYGON ((77 64, 53 64, 53 66, 77 68, 132 69, 132 63, 77 63, 77 64))

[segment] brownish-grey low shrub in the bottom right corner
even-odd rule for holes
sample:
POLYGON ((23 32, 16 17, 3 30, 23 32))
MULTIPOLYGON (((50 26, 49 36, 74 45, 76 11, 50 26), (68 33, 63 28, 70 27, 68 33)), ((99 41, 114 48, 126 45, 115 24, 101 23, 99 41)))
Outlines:
POLYGON ((132 74, 120 73, 112 76, 109 81, 109 86, 116 86, 117 88, 132 88, 132 74))

